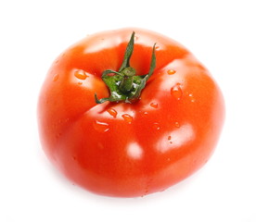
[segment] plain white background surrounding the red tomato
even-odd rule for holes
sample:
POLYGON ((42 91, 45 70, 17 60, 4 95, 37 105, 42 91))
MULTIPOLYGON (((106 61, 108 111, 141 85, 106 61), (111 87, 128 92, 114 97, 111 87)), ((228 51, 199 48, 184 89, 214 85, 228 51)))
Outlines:
POLYGON ((256 6, 247 1, 0 2, 0 221, 256 221, 256 6), (47 69, 97 31, 139 27, 183 43, 211 70, 226 119, 211 161, 167 191, 119 199, 73 186, 41 149, 47 69))

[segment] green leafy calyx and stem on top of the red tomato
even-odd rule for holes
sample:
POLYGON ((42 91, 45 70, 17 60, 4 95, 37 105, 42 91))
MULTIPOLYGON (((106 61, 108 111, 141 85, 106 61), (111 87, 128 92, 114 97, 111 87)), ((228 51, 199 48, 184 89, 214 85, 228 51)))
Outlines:
POLYGON ((148 73, 143 76, 135 76, 135 69, 130 67, 130 58, 134 51, 134 34, 135 33, 133 32, 126 47, 122 66, 119 71, 107 69, 102 73, 101 78, 108 85, 110 96, 98 99, 95 94, 96 104, 102 104, 107 101, 132 103, 132 101, 139 98, 140 93, 146 86, 147 80, 152 76, 153 71, 156 68, 156 43, 153 46, 148 73))

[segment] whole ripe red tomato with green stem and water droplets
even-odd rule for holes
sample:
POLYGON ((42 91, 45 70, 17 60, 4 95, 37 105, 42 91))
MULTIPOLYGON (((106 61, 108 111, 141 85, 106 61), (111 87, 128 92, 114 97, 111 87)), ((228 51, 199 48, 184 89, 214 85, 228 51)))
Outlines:
POLYGON ((211 157, 224 98, 184 46, 140 29, 75 43, 38 102, 45 154, 74 184, 116 197, 163 191, 211 157))

